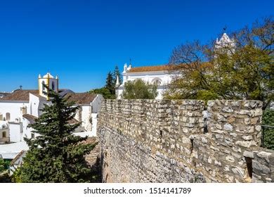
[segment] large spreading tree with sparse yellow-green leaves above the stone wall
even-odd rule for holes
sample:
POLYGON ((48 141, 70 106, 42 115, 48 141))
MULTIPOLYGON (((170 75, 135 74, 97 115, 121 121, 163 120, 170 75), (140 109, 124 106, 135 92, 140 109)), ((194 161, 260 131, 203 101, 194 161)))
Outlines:
POLYGON ((253 99, 265 109, 274 98, 273 18, 231 33, 235 44, 193 42, 174 49, 176 75, 164 98, 253 99))

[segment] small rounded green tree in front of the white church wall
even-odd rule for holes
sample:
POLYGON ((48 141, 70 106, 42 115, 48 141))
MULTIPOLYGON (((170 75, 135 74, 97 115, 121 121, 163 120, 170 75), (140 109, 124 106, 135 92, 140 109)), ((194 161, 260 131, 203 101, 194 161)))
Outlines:
POLYGON ((122 98, 124 99, 155 99, 157 96, 157 85, 148 84, 138 79, 124 84, 122 98))

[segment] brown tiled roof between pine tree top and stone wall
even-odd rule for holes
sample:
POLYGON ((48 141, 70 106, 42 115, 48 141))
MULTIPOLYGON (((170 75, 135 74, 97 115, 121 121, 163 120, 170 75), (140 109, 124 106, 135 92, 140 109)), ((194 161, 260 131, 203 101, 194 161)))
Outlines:
POLYGON ((68 93, 65 95, 65 98, 68 98, 68 101, 74 102, 76 104, 89 104, 94 98, 96 98, 97 94, 89 94, 89 93, 68 93))

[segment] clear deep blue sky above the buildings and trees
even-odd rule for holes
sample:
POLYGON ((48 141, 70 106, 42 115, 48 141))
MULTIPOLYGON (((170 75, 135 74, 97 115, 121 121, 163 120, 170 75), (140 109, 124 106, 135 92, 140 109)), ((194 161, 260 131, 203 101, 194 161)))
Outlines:
POLYGON ((273 15, 274 1, 0 0, 0 91, 37 89, 51 72, 60 87, 102 87, 108 71, 169 61, 174 46, 216 39, 273 15))

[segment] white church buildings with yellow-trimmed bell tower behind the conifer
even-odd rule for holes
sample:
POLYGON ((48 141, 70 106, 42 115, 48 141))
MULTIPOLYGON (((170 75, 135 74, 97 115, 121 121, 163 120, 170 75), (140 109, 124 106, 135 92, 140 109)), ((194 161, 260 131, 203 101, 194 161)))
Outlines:
POLYGON ((27 126, 41 115, 44 105, 51 103, 48 96, 43 93, 47 91, 43 84, 79 106, 77 115, 70 122, 71 124, 81 122, 81 126, 76 131, 79 135, 96 136, 97 117, 103 96, 59 89, 58 81, 58 77, 53 77, 50 73, 43 77, 39 75, 38 89, 18 89, 0 98, 0 154, 3 158, 14 158, 18 151, 26 148, 24 137, 35 137, 32 128, 27 126), (7 148, 8 146, 14 148, 7 148))

